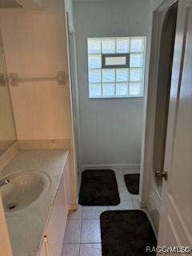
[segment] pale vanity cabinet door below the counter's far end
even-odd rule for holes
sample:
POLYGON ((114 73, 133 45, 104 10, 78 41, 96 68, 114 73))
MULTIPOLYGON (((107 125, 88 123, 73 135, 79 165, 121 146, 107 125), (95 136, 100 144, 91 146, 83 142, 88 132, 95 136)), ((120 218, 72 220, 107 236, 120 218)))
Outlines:
POLYGON ((62 175, 61 182, 58 186, 58 192, 54 200, 54 206, 50 214, 50 222, 46 230, 50 256, 60 256, 62 253, 62 242, 66 230, 67 212, 66 189, 62 175))

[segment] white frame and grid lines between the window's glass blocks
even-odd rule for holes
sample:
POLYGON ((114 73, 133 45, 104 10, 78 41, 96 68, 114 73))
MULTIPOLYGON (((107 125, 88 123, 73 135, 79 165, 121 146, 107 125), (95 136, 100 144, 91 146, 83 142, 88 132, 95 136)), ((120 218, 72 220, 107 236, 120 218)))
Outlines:
MULTIPOLYGON (((102 43, 102 42, 101 42, 102 43)), ((145 90, 145 78, 146 78, 146 36, 143 36, 143 35, 141 35, 141 36, 122 36, 122 37, 101 37, 101 38, 98 38, 98 37, 89 37, 89 38, 86 38, 86 46, 87 46, 87 48, 86 48, 86 54, 87 54, 87 56, 86 56, 86 59, 87 59, 87 81, 88 81, 88 98, 89 99, 118 99, 118 98, 143 98, 144 97, 144 90, 145 90), (118 67, 116 67, 116 66, 111 66, 111 67, 109 67, 109 66, 106 66, 106 67, 102 67, 102 63, 101 63, 101 68, 93 68, 93 69, 90 69, 89 68, 89 55, 91 55, 91 54, 89 54, 89 48, 88 48, 88 40, 89 39, 100 39, 101 41, 102 41, 102 39, 118 39, 118 38, 143 38, 144 39, 144 42, 143 42, 143 51, 142 52, 129 52, 129 53, 117 53, 117 54, 102 54, 102 53, 98 53, 98 55, 105 55, 105 56, 107 56, 107 55, 109 55, 109 56, 112 56, 112 55, 114 55, 114 56, 117 56, 118 54, 119 54, 119 56, 120 55, 122 55, 122 56, 125 56, 125 55, 129 55, 129 64, 130 64, 130 54, 143 54, 143 58, 142 58, 142 60, 143 60, 143 63, 142 63, 142 67, 132 67, 132 69, 139 69, 139 70, 142 70, 142 81, 141 82, 131 82, 130 81, 130 78, 129 78, 129 82, 127 82, 128 83, 128 90, 130 89, 130 83, 141 83, 141 94, 138 94, 138 95, 136 95, 136 94, 129 94, 129 92, 128 92, 128 95, 109 95, 109 96, 90 96, 90 84, 101 84, 101 90, 102 90, 102 87, 103 87, 103 84, 105 84, 105 83, 111 83, 111 84, 113 84, 114 83, 114 90, 116 90, 116 84, 121 84, 121 83, 126 83, 126 82, 117 82, 116 80, 115 80, 115 82, 90 82, 90 80, 89 80, 89 70, 101 70, 101 74, 102 74, 102 70, 107 70, 107 69, 113 69, 114 68, 114 70, 115 70, 115 76, 116 76, 116 69, 118 69, 119 68, 119 66, 118 67)), ((130 46, 129 46, 130 47, 130 46)), ((94 54, 93 54, 94 55, 94 54)), ((97 54, 95 54, 95 55, 97 55, 97 54)), ((122 66, 121 67, 122 69, 123 68, 127 68, 126 66, 122 66)), ((119 68, 119 69, 121 69, 121 68, 119 68)), ((130 67, 129 67, 129 69, 130 69, 130 67)), ((130 71, 129 71, 129 74, 130 74, 130 71)))

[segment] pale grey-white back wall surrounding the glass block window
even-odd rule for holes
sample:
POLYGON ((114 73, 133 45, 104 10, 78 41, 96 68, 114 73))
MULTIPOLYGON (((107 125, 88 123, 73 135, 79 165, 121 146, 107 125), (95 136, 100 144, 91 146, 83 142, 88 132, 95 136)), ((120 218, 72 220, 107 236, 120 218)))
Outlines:
POLYGON ((143 98, 89 99, 86 38, 147 35, 150 1, 74 2, 82 165, 140 163, 143 98))

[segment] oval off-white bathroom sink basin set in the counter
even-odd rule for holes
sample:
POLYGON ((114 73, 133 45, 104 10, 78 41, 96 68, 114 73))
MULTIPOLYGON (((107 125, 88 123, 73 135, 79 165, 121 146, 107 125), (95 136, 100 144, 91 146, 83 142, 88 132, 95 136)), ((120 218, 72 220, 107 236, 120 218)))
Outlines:
POLYGON ((50 177, 42 171, 17 171, 4 177, 10 180, 2 186, 2 202, 6 212, 24 210, 38 202, 50 188, 50 177))

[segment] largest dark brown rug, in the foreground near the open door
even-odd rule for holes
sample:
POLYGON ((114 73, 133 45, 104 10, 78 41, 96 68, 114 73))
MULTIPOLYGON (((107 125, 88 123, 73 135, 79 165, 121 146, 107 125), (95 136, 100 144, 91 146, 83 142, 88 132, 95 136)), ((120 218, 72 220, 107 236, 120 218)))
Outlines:
POLYGON ((100 215, 102 256, 155 256, 146 246, 157 246, 154 230, 142 210, 114 210, 100 215))

